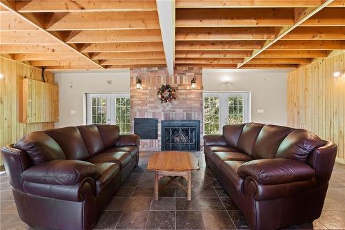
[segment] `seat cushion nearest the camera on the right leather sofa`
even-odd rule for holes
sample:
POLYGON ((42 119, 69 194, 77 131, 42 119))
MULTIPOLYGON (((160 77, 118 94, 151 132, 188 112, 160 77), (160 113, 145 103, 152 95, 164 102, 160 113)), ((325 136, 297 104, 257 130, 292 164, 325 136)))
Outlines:
POLYGON ((226 160, 219 168, 219 170, 223 171, 223 173, 229 178, 230 183, 233 184, 239 193, 243 193, 244 180, 237 174, 237 170, 239 166, 244 163, 246 162, 226 160))

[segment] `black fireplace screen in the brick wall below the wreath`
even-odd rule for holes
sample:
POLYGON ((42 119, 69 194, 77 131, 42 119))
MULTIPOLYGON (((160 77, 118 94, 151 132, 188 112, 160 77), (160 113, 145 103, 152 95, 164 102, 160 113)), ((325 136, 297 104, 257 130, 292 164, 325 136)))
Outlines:
POLYGON ((161 135, 162 151, 200 150, 199 121, 162 121, 161 135))

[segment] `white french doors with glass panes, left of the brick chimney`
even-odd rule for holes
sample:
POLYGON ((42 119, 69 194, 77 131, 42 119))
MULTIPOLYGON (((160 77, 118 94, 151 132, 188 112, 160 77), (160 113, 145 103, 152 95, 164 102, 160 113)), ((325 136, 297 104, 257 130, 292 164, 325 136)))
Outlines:
POLYGON ((130 133, 129 94, 88 94, 86 111, 87 124, 117 124, 121 133, 130 133))

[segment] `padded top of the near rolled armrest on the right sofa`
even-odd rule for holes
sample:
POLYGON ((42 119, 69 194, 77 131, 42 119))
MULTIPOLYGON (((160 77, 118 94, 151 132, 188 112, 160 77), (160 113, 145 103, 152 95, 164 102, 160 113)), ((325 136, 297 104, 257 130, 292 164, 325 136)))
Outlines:
POLYGON ((283 158, 246 162, 239 166, 237 174, 244 179, 249 176, 264 185, 301 182, 315 178, 315 171, 308 164, 283 158))

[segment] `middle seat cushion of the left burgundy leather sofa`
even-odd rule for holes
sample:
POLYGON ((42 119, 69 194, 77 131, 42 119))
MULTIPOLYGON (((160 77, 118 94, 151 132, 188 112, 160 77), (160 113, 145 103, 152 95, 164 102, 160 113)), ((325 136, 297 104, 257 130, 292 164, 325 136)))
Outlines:
POLYGON ((89 157, 86 161, 91 163, 106 163, 106 162, 112 162, 117 163, 120 166, 120 169, 124 169, 124 166, 126 166, 130 160, 132 159, 132 156, 127 151, 115 151, 115 152, 108 152, 108 153, 97 153, 96 155, 92 155, 89 157))

